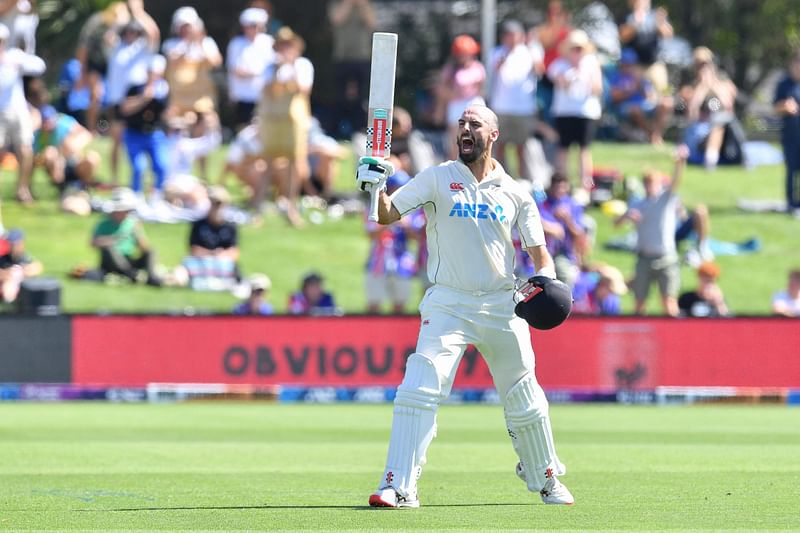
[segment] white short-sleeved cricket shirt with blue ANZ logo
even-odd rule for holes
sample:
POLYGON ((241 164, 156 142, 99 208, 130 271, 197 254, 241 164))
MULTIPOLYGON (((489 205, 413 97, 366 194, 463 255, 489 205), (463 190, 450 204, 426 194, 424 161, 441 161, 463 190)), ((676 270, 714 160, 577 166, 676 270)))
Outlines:
POLYGON ((514 288, 511 228, 523 248, 545 244, 531 194, 494 161, 480 183, 461 161, 417 174, 391 195, 401 215, 422 206, 428 219, 428 279, 472 293, 514 288))

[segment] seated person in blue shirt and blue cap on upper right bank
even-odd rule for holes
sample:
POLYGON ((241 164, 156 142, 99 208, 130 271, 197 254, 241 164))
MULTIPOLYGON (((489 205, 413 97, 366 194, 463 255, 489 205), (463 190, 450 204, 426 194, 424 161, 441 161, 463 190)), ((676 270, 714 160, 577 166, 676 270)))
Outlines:
POLYGON ((651 143, 660 145, 672 102, 658 94, 638 63, 633 49, 622 50, 619 70, 610 80, 611 104, 622 120, 630 121, 651 143))

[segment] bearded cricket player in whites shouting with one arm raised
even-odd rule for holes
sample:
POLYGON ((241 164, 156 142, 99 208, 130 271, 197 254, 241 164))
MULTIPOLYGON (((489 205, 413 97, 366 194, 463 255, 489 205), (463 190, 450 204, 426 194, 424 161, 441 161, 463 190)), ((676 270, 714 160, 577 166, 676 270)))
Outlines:
POLYGON ((514 314, 512 227, 538 276, 554 279, 555 266, 533 197, 492 158, 499 135, 493 111, 469 106, 458 121, 458 160, 420 172, 391 196, 384 191, 391 164, 359 161, 359 188, 380 191, 381 224, 424 208, 433 283, 420 303, 419 339, 397 389, 386 470, 369 498, 373 507, 419 507, 417 480, 436 436, 436 412, 469 344, 483 354, 503 399, 520 459, 517 475, 545 503, 574 503, 556 478, 566 469, 556 456, 547 399, 534 375, 529 326, 514 314))

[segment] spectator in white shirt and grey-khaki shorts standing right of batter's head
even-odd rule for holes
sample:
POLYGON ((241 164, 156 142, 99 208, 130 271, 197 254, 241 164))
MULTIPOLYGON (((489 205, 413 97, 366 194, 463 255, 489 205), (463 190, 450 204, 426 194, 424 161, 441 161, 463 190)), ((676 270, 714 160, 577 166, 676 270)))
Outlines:
POLYGON ((534 129, 536 77, 544 64, 535 58, 525 43, 525 28, 516 20, 503 23, 501 44, 492 51, 491 107, 500 120, 503 135, 497 140, 497 159, 504 168, 506 146, 516 150, 518 175, 529 181, 530 161, 525 143, 534 129))

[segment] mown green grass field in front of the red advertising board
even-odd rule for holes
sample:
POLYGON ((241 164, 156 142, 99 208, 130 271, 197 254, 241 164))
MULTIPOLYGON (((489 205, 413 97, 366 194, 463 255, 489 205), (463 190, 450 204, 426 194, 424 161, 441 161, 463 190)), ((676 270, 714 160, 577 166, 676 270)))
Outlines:
POLYGON ((527 492, 499 406, 446 405, 423 507, 366 506, 391 406, 0 404, 0 530, 798 530, 800 411, 552 408, 577 499, 527 492))

